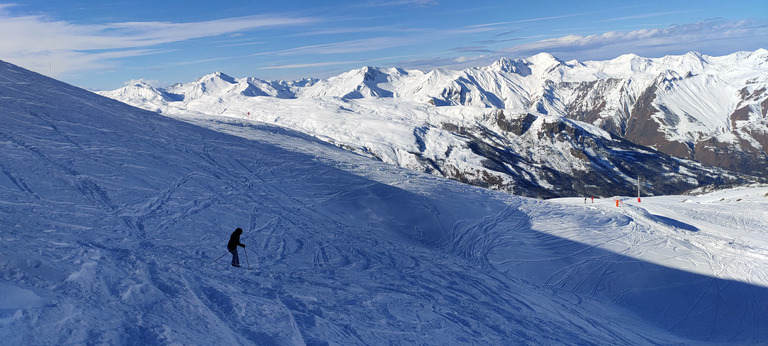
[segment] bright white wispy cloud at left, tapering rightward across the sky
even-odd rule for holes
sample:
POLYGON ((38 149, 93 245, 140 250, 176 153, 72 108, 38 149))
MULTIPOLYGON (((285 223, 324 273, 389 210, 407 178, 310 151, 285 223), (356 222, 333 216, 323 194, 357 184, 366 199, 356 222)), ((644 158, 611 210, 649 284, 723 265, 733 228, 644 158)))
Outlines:
POLYGON ((168 43, 317 20, 260 15, 188 23, 83 25, 42 15, 13 15, 12 7, 0 5, 0 58, 53 75, 108 68, 114 66, 113 59, 157 53, 168 43))

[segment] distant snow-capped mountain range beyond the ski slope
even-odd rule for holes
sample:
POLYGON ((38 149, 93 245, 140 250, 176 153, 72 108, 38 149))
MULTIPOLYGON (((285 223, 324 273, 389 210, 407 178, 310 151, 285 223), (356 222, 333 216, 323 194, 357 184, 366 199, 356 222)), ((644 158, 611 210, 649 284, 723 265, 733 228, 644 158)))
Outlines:
POLYGON ((541 53, 460 71, 365 66, 294 82, 217 72, 101 94, 170 115, 275 123, 400 166, 554 197, 626 194, 638 176, 653 194, 768 178, 766 89, 760 49, 587 62, 541 53))

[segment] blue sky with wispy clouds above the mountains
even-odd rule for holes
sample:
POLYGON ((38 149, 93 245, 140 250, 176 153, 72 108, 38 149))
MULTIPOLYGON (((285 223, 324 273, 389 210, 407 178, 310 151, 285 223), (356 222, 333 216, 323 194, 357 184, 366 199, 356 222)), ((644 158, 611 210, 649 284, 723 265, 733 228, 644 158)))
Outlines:
MULTIPOLYGON (((2 0, 0 0, 2 1, 2 0)), ((0 60, 90 89, 768 48, 768 1, 0 2, 0 60)))

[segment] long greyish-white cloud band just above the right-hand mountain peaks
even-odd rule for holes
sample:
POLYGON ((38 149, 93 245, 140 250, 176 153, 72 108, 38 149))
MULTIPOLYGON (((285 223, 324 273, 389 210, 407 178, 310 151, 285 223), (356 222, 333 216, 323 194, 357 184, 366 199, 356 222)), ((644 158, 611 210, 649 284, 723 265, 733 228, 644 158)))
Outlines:
MULTIPOLYGON (((520 37, 530 41, 499 50, 464 46, 434 58, 401 61, 401 67, 428 70, 435 67, 466 68, 487 65, 500 57, 527 58, 547 52, 563 60, 602 60, 635 53, 646 57, 698 51, 707 55, 730 54, 738 50, 765 48, 768 22, 710 20, 666 28, 609 31, 594 35, 564 35, 551 38, 520 37), (450 57, 450 53, 462 54, 450 57), (475 55, 467 55, 475 53, 475 55)), ((494 41, 497 42, 497 41, 494 41)))

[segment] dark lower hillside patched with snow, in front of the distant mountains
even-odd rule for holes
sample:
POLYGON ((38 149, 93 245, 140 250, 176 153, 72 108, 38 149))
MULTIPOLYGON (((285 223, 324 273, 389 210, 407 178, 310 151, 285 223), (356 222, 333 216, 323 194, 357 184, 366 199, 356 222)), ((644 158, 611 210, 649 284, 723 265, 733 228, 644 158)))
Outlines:
MULTIPOLYGON (((542 198, 632 195, 637 177, 649 195, 754 181, 585 126, 563 117, 496 111, 487 122, 460 130, 472 152, 484 158, 483 170, 451 167, 445 176, 542 198)), ((452 124, 442 128, 459 131, 452 124)))

